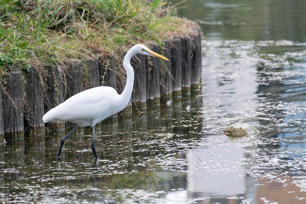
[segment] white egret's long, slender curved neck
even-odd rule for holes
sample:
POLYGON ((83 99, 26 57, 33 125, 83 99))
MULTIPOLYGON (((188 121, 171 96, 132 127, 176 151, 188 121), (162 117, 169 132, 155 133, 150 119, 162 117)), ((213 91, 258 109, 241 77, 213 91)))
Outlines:
POLYGON ((121 97, 123 100, 122 102, 126 104, 125 106, 128 105, 131 99, 131 94, 132 94, 133 86, 134 86, 134 69, 130 63, 132 56, 133 56, 133 53, 130 49, 128 53, 124 56, 124 59, 123 59, 123 67, 127 72, 127 84, 121 93, 121 97))

